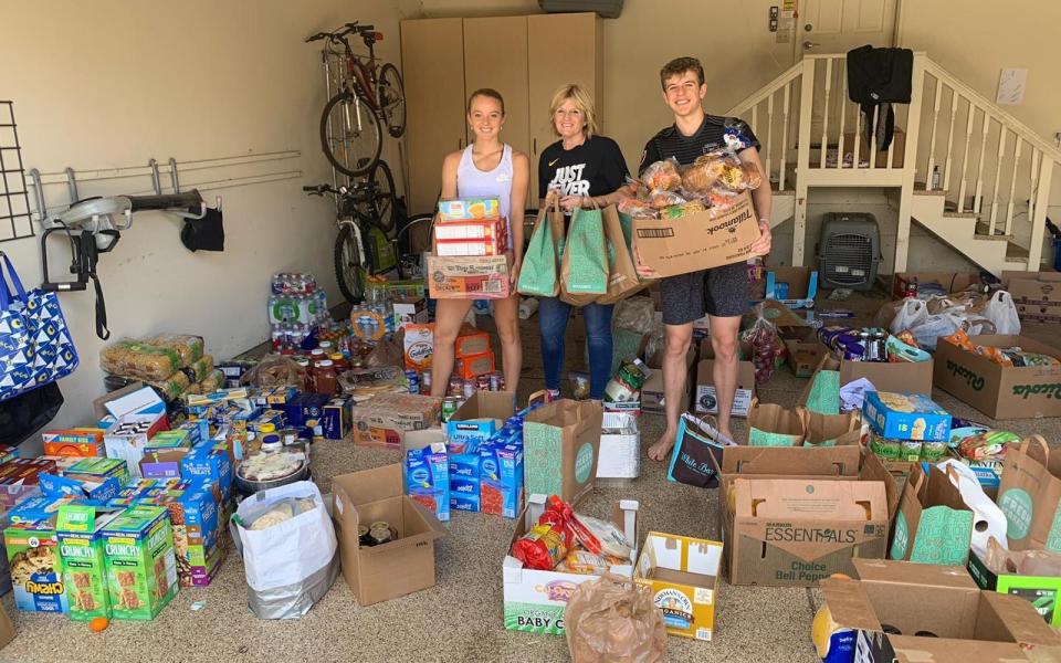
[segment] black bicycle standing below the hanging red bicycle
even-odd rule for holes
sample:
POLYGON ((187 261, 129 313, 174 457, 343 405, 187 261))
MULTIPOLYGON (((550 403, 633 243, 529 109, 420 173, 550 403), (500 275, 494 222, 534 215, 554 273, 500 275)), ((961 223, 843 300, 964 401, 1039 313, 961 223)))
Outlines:
MULTIPOLYGON (((390 182, 390 189, 382 190, 376 179, 376 172, 381 170, 380 166, 386 168, 387 164, 379 161, 372 177, 366 181, 356 181, 349 187, 340 186, 336 189, 332 185, 315 185, 302 188, 311 196, 335 197, 338 211, 335 223, 339 230, 333 253, 335 277, 339 292, 350 304, 358 304, 364 299, 366 274, 379 274, 397 266, 392 249, 395 240, 390 239, 390 231, 395 227, 393 181, 390 182), (389 228, 385 228, 382 223, 385 215, 390 218, 389 228), (382 233, 384 241, 389 245, 389 259, 381 255, 378 242, 368 244, 369 250, 366 251, 365 236, 372 235, 374 230, 382 233)), ((386 172, 389 177, 389 168, 386 172)))

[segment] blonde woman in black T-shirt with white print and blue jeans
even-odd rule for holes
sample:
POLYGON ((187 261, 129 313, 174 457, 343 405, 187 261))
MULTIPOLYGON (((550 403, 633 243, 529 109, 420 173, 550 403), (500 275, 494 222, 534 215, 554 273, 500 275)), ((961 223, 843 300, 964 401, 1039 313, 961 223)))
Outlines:
MULTIPOLYGON (((589 94, 578 85, 564 85, 553 95, 549 116, 553 133, 560 139, 545 148, 538 159, 540 204, 551 204, 559 199, 569 221, 576 208, 605 207, 624 198, 627 162, 614 140, 597 135, 597 117, 589 94)), ((557 297, 539 297, 538 302, 545 386, 556 397, 560 390, 564 340, 571 305, 557 297)), ((589 345, 589 394, 595 400, 603 398, 605 386, 611 377, 613 308, 611 304, 582 307, 589 345)))

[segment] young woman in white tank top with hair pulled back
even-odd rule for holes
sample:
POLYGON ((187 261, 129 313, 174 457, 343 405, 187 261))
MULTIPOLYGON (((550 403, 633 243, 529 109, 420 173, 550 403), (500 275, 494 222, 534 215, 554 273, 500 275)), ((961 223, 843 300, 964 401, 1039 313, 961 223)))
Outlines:
MULTIPOLYGON (((527 155, 501 140, 505 124, 505 101, 495 90, 476 90, 468 98, 468 125, 475 140, 442 162, 442 198, 493 197, 500 199, 501 215, 508 219, 508 251, 512 253, 512 296, 494 299, 494 323, 501 338, 502 368, 506 389, 519 387, 523 348, 519 347, 519 295, 516 280, 523 262, 523 211, 530 183, 527 155)), ((461 322, 472 307, 471 299, 439 299, 434 313, 434 356, 431 360, 431 396, 443 396, 453 371, 453 344, 461 322)))

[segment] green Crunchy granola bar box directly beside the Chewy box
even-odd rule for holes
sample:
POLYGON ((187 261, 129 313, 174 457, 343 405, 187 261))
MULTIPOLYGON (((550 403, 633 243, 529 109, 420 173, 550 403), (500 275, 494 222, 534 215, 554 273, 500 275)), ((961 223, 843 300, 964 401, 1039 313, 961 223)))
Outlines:
POLYGON ((59 509, 55 538, 63 565, 63 585, 70 599, 70 619, 111 619, 111 592, 99 530, 120 515, 94 506, 64 505, 59 509))

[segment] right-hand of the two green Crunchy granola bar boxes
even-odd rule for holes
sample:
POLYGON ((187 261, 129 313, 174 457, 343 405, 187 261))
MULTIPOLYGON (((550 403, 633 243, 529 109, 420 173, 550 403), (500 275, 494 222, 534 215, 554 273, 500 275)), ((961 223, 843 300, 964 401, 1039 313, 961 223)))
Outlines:
POLYGON ((155 619, 177 594, 169 514, 158 506, 133 506, 101 536, 114 619, 155 619))

